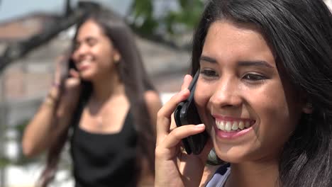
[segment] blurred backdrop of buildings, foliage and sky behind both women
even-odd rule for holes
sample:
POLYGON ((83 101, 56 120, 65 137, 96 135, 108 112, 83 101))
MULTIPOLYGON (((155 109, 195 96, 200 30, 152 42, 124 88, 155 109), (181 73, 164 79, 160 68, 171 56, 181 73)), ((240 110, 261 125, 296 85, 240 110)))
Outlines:
MULTIPOLYGON (((70 47, 91 2, 131 26, 163 103, 189 72, 192 32, 205 0, 0 0, 0 187, 34 186, 43 169, 44 155, 23 157, 21 135, 50 88, 55 58, 70 47)), ((326 4, 332 8, 332 0, 326 4)), ((52 186, 73 186, 68 149, 52 186)))

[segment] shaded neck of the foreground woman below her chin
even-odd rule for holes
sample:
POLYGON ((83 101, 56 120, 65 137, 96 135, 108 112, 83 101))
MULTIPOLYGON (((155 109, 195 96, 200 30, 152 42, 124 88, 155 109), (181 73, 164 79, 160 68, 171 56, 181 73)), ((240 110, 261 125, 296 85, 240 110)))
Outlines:
POLYGON ((275 161, 260 161, 231 164, 231 174, 226 187, 231 186, 280 186, 279 164, 275 161))

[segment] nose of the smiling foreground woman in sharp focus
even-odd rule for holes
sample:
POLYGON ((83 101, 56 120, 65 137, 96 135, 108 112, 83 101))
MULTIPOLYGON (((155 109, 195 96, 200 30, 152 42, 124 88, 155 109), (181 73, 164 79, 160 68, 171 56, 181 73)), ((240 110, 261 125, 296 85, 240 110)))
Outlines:
POLYGON ((216 107, 236 107, 243 102, 240 96, 240 87, 236 79, 221 79, 210 98, 216 107))

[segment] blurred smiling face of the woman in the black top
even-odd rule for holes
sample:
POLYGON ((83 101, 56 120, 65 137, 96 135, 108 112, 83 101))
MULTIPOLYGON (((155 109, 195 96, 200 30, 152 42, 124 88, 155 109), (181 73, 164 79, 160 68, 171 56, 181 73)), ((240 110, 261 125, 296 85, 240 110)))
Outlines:
POLYGON ((115 56, 120 57, 118 50, 96 21, 89 19, 79 27, 72 59, 82 79, 108 77, 115 69, 115 56))

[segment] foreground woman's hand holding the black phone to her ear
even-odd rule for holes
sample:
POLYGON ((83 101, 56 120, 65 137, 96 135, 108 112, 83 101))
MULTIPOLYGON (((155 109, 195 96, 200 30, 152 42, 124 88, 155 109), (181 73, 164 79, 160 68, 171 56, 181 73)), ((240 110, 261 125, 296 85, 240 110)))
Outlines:
POLYGON ((211 150, 211 142, 199 155, 183 152, 181 140, 205 130, 201 125, 176 125, 172 113, 177 104, 189 96, 187 87, 192 77, 186 75, 182 91, 165 103, 157 115, 157 146, 155 149, 155 186, 199 186, 204 171, 206 158, 211 150))

